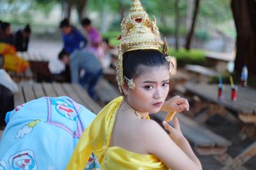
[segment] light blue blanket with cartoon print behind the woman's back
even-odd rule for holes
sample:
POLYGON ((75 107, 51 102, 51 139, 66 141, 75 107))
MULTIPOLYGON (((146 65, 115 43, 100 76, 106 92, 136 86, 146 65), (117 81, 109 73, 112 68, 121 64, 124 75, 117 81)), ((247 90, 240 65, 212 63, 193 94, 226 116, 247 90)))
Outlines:
MULTIPOLYGON (((0 169, 65 169, 95 114, 69 97, 42 97, 6 114, 0 169)), ((85 169, 99 169, 93 154, 85 169)))

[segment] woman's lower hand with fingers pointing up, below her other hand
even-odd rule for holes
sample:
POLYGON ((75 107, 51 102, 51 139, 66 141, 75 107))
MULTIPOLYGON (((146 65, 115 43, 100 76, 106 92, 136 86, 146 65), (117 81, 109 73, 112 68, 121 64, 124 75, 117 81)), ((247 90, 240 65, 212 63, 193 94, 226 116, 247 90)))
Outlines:
POLYGON ((167 122, 163 121, 164 129, 170 132, 170 138, 176 143, 176 145, 180 146, 184 140, 186 140, 180 131, 180 124, 177 117, 174 118, 174 127, 169 125, 167 122))

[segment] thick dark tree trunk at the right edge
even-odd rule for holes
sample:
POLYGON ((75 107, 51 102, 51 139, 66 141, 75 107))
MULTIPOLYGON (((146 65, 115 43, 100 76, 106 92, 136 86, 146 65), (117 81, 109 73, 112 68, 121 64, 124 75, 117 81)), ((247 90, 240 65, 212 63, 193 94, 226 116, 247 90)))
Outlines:
POLYGON ((231 8, 237 30, 236 74, 246 64, 248 74, 256 76, 256 1, 232 0, 231 8))

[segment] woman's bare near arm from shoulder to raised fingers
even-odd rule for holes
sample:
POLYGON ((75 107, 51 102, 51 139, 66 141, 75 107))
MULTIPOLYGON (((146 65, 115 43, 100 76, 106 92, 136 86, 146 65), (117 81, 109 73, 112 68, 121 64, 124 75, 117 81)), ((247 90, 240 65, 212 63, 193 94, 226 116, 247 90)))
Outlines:
POLYGON ((156 122, 147 125, 145 129, 145 149, 155 155, 172 170, 202 170, 200 161, 191 149, 186 138, 179 129, 179 121, 175 118, 175 127, 164 123, 168 134, 156 122))

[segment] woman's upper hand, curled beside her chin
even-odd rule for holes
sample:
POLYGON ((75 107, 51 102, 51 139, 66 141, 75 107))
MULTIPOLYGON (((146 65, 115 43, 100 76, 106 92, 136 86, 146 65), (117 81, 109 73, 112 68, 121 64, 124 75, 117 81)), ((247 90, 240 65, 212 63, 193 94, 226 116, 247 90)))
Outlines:
POLYGON ((167 101, 164 102, 161 111, 166 112, 174 112, 176 111, 181 112, 183 110, 189 111, 189 103, 188 100, 180 97, 180 96, 174 96, 167 101))

